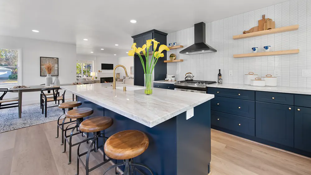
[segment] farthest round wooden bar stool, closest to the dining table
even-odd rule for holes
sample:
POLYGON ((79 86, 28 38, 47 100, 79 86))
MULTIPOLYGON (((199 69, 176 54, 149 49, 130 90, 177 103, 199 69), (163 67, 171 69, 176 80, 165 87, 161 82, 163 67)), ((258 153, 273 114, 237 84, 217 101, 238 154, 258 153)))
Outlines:
MULTIPOLYGON (((62 130, 62 144, 64 144, 64 125, 65 124, 68 124, 68 123, 72 123, 72 122, 76 122, 75 120, 72 121, 72 119, 70 119, 70 122, 66 122, 65 123, 65 119, 66 117, 63 119, 63 122, 61 124, 59 124, 59 120, 60 120, 60 117, 62 117, 63 115, 65 115, 65 109, 68 108, 68 111, 72 110, 74 107, 78 107, 80 106, 82 103, 80 101, 68 101, 68 102, 64 102, 62 104, 59 104, 58 105, 58 108, 61 108, 64 110, 64 114, 60 115, 58 117, 58 120, 57 120, 57 137, 59 136, 59 128, 62 130)), ((68 129, 72 129, 72 128, 68 128, 68 129)))

